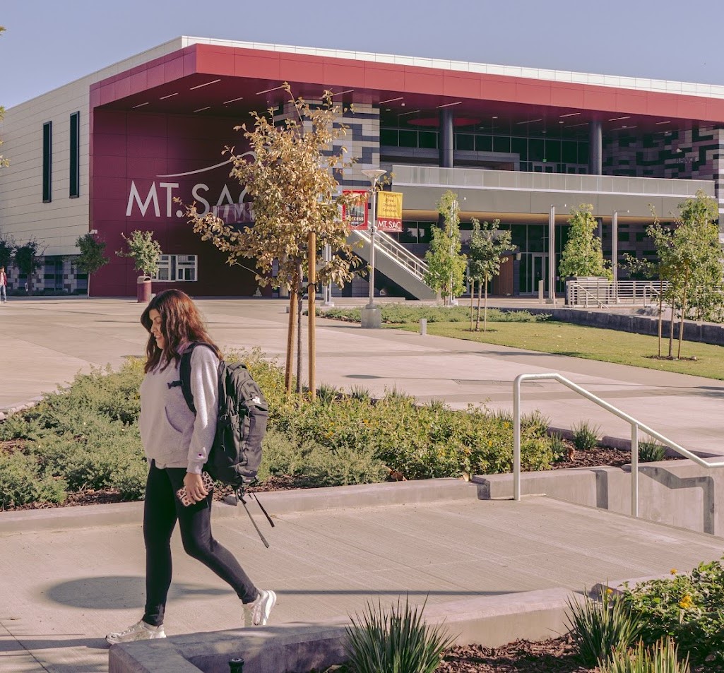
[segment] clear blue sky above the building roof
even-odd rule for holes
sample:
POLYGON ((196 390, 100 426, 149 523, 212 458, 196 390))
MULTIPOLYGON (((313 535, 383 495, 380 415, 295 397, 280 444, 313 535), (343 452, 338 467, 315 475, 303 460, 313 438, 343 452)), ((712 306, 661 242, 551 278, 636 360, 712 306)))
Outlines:
POLYGON ((2 0, 6 108, 179 35, 724 85, 723 0, 2 0))

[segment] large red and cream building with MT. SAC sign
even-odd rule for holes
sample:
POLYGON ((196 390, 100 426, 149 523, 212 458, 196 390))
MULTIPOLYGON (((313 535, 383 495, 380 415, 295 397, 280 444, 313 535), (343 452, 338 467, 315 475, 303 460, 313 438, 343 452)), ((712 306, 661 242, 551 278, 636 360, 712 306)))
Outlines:
MULTIPOLYGON (((309 101, 329 89, 353 104, 340 142, 357 163, 341 188, 367 189, 361 171, 382 168, 403 194, 403 231, 380 234, 376 252, 376 290, 387 295, 426 296, 418 261, 446 190, 458 197, 463 245, 473 217, 511 230, 511 263, 493 287, 502 295, 532 294, 556 275, 568 211, 581 203, 593 206, 605 255, 617 248, 622 261, 655 257, 652 211, 673 219, 698 190, 724 198, 722 86, 182 37, 14 106, 0 122, 11 161, 0 171, 0 237, 41 244, 36 291, 85 289, 72 257, 93 232, 110 263, 91 294, 135 295, 138 272, 114 253, 122 234, 140 229, 164 253, 155 292, 254 295, 253 261, 228 266, 175 198, 251 222, 223 150, 248 151, 234 127, 250 111, 290 113, 283 82, 309 101)), ((351 235, 366 259, 369 237, 351 235)), ((9 276, 11 289, 27 280, 17 268, 9 276)), ((368 288, 360 277, 335 292, 368 288)))

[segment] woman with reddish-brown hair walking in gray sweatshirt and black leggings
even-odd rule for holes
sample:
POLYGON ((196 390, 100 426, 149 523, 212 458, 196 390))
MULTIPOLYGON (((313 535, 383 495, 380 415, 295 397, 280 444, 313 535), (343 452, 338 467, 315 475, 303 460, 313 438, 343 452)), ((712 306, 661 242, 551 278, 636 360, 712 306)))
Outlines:
POLYGON ((277 595, 257 589, 231 552, 211 536, 213 486, 204 486, 202 473, 216 432, 219 349, 207 334, 194 302, 180 290, 156 295, 140 321, 149 334, 139 420, 150 465, 143 507, 146 608, 139 622, 109 633, 106 640, 112 645, 166 638, 164 611, 172 578, 170 542, 176 522, 186 553, 219 575, 241 599, 244 625, 264 626, 277 595), (214 348, 195 348, 191 355, 195 414, 183 397, 179 373, 181 355, 192 342, 206 342, 214 348), (185 492, 179 495, 181 489, 185 492))

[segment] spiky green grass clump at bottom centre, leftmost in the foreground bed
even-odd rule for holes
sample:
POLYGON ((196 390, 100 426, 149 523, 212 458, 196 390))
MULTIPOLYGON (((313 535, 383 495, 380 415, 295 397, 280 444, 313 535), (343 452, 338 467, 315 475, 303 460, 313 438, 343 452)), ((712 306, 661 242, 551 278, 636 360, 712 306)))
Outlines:
POLYGON ((424 609, 408 599, 390 609, 367 604, 362 617, 345 627, 345 652, 355 673, 433 673, 453 639, 423 621, 424 609))

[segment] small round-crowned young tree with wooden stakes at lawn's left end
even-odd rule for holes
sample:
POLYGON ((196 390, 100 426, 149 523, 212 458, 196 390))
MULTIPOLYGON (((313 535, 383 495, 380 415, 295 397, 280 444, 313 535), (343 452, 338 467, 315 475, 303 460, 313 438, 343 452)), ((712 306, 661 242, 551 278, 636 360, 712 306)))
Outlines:
POLYGON ((500 274, 500 264, 508 261, 501 258, 502 253, 511 248, 512 234, 508 230, 501 230, 500 220, 493 220, 492 224, 473 218, 473 233, 468 250, 468 275, 471 278, 470 292, 470 321, 473 322, 473 295, 475 295, 475 282, 478 282, 478 313, 475 331, 480 331, 480 299, 485 293, 485 308, 483 313, 483 331, 488 329, 488 283, 494 276, 500 274))

